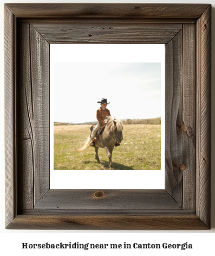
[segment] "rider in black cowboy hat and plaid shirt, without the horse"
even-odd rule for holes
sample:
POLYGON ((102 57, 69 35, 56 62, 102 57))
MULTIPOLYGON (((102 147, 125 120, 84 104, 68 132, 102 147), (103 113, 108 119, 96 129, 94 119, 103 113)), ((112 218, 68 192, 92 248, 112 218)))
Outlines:
MULTIPOLYGON (((95 140, 96 140, 96 134, 97 134, 97 130, 99 130, 99 128, 101 126, 104 126, 105 124, 105 117, 110 116, 110 111, 109 109, 107 109, 107 99, 102 98, 101 101, 98 101, 97 103, 100 103, 101 107, 99 109, 97 109, 96 111, 96 118, 97 118, 97 124, 93 129, 91 138, 92 138, 92 142, 90 143, 90 146, 95 146, 95 140)), ((120 143, 116 142, 115 146, 119 146, 120 143)))

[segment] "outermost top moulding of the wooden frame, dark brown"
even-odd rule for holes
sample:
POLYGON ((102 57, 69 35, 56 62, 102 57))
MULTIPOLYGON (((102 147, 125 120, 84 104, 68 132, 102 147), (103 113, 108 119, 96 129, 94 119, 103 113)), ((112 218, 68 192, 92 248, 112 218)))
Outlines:
POLYGON ((16 17, 30 18, 199 18, 208 4, 32 3, 6 4, 16 17))

